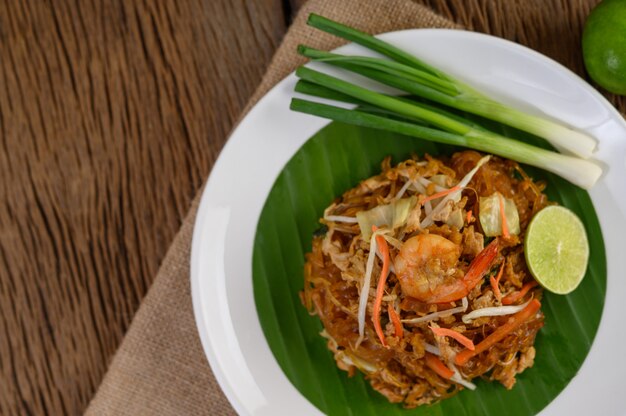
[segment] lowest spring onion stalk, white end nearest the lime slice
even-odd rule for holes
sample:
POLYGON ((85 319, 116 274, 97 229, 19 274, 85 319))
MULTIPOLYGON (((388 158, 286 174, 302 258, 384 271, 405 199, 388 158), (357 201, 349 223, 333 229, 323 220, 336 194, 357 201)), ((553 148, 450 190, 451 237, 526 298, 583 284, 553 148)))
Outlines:
POLYGON ((359 110, 349 110, 299 98, 294 98, 291 101, 291 109, 346 124, 385 130, 437 143, 469 147, 493 153, 507 159, 545 169, 584 189, 591 188, 602 175, 602 169, 589 160, 562 155, 492 133, 475 131, 471 128, 466 134, 450 133, 359 110))

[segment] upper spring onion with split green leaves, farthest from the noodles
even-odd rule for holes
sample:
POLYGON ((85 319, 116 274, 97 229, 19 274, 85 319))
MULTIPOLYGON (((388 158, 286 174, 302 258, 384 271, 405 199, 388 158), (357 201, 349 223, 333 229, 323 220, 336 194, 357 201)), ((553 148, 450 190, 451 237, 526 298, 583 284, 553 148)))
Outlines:
POLYGON ((542 137, 557 149, 588 158, 596 147, 591 136, 558 122, 521 112, 476 91, 415 56, 330 19, 311 14, 308 24, 392 59, 345 56, 301 46, 302 55, 323 61, 440 104, 477 114, 542 137))

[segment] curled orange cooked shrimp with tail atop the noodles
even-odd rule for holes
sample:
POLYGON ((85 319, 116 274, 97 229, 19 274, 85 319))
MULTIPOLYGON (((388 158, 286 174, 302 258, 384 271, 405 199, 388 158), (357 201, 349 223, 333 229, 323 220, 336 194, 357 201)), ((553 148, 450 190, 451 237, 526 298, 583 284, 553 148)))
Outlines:
POLYGON ((395 259, 395 272, 402 291, 426 303, 461 299, 480 282, 498 254, 496 240, 481 251, 467 273, 458 266, 461 248, 436 234, 408 239, 395 259))

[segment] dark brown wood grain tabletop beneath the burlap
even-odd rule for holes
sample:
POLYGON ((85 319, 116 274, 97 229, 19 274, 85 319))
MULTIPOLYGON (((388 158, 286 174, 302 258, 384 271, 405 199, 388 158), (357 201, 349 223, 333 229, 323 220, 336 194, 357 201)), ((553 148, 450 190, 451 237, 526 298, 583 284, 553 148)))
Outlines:
MULTIPOLYGON (((583 73, 596 1, 421 2, 583 73)), ((0 414, 84 410, 302 3, 0 1, 0 414)))

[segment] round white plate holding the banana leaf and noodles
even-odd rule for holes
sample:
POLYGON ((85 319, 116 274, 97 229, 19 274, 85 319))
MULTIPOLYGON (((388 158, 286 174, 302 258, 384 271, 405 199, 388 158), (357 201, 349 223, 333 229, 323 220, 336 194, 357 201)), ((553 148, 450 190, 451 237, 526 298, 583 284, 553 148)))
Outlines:
MULTIPOLYGON (((512 42, 453 30, 380 36, 461 79, 599 139, 605 174, 590 191, 607 257, 607 295, 596 340, 578 375, 542 415, 616 415, 626 409, 626 124, 593 88, 556 62, 512 42)), ((366 52, 347 45, 343 53, 366 52)), ((355 78, 356 79, 356 78, 355 78)), ((242 415, 320 414, 289 382, 265 340, 252 293, 256 225, 278 174, 328 121, 289 111, 296 78, 274 87, 237 127, 202 195, 191 255, 191 290, 202 345, 242 415)))

